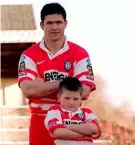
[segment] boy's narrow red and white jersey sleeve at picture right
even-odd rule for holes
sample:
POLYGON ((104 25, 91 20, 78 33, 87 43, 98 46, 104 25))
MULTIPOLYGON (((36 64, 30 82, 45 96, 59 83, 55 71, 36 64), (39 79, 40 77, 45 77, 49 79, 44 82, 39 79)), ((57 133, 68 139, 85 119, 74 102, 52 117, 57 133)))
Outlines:
POLYGON ((89 109, 86 109, 86 112, 85 113, 86 113, 85 114, 86 115, 86 121, 89 121, 90 120, 91 123, 94 123, 98 127, 98 133, 91 136, 93 139, 98 139, 101 136, 101 130, 100 130, 100 127, 99 127, 99 124, 98 124, 98 121, 97 121, 97 117, 89 109))

